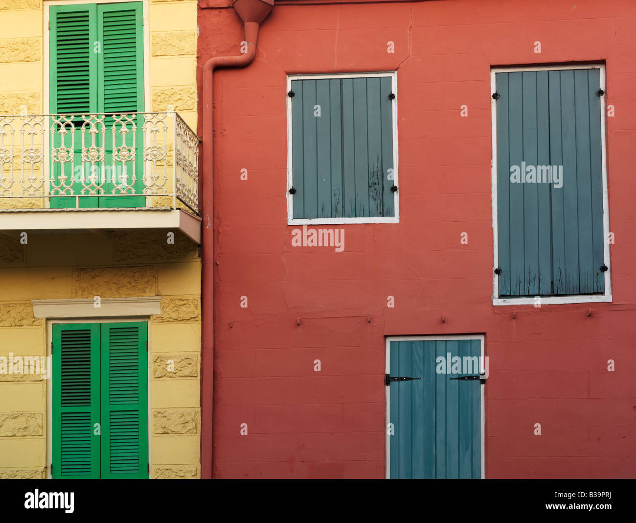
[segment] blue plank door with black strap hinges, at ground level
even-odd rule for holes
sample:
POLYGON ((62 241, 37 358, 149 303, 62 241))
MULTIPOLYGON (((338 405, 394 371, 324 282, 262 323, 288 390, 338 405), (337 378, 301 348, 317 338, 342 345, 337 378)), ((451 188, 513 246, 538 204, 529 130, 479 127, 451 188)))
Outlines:
POLYGON ((479 373, 481 341, 392 341, 389 351, 392 377, 422 378, 389 384, 389 477, 480 478, 481 382, 450 378, 479 373))

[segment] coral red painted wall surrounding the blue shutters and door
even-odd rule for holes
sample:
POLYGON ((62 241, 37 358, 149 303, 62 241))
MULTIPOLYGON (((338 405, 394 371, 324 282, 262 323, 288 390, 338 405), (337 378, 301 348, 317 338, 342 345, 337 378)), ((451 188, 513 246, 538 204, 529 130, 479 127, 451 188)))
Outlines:
MULTIPOLYGON (((199 67, 243 39, 215 4, 199 67)), ((636 476, 634 27, 630 0, 277 2, 256 60, 214 73, 215 477, 384 477, 385 336, 462 333, 490 360, 487 477, 636 476), (490 67, 570 61, 606 63, 616 111, 614 300, 494 307, 490 67), (342 253, 293 247, 286 75, 396 69, 400 223, 324 226, 342 253)))

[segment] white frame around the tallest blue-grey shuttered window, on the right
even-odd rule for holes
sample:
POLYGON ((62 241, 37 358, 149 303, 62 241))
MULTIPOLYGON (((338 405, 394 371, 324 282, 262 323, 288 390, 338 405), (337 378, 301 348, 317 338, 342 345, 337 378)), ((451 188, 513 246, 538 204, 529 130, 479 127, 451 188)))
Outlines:
MULTIPOLYGON (((517 73, 522 71, 564 71, 569 69, 598 69, 600 88, 605 90, 605 66, 603 64, 583 64, 577 66, 527 66, 527 67, 495 67, 490 69, 490 92, 497 92, 497 73, 517 73)), ((492 266, 492 304, 493 305, 534 305, 533 296, 520 298, 499 297, 499 277, 495 274, 495 268, 499 267, 499 246, 497 244, 497 101, 491 99, 492 109, 492 232, 494 240, 494 258, 492 266)), ((605 293, 599 295, 568 295, 568 296, 541 296, 542 305, 558 303, 595 303, 612 301, 611 263, 609 244, 609 205, 607 202, 607 151, 605 137, 605 97, 600 97, 600 137, 601 137, 601 165, 603 179, 603 258, 608 269, 605 271, 605 293)))

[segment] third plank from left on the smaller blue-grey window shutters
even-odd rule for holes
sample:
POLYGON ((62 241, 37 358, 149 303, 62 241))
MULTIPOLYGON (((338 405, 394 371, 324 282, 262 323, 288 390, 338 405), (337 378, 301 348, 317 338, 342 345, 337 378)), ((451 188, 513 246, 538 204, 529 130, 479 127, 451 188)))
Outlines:
POLYGON ((319 218, 331 218, 331 97, 329 80, 316 80, 316 104, 321 116, 315 117, 317 142, 317 204, 319 218))

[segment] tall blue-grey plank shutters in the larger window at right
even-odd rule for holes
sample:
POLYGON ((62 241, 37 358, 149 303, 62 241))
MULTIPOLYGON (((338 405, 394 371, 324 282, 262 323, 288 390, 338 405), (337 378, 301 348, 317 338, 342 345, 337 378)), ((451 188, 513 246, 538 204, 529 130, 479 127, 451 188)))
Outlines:
POLYGON ((497 73, 499 296, 605 290, 599 85, 598 69, 497 73), (522 162, 562 165, 563 186, 512 183, 522 162))

